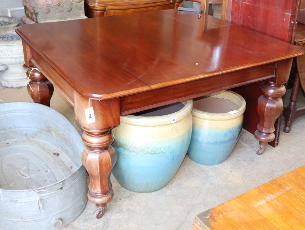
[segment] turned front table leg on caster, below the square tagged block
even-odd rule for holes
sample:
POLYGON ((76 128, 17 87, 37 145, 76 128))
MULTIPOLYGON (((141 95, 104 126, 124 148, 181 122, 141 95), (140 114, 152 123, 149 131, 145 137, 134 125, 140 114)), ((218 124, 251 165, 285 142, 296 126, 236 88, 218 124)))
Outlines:
POLYGON ((96 204, 94 215, 99 219, 105 213, 107 202, 113 198, 110 173, 117 161, 116 151, 111 146, 114 134, 111 128, 85 130, 82 139, 87 146, 81 160, 90 177, 88 199, 96 204))

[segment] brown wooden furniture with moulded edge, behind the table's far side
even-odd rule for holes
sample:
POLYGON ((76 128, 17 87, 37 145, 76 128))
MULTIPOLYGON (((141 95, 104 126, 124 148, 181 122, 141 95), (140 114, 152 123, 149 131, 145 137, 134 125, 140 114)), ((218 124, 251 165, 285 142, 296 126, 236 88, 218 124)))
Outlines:
POLYGON ((91 17, 141 13, 178 8, 182 0, 84 0, 85 15, 91 17))

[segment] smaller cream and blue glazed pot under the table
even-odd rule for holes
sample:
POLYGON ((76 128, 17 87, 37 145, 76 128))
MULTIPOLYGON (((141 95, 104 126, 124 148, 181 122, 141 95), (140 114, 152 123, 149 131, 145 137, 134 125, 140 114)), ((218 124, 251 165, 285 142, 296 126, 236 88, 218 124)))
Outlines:
POLYGON ((246 101, 231 91, 207 96, 230 100, 239 107, 230 113, 207 113, 194 108, 192 110, 193 129, 188 156, 202 165, 218 165, 228 158, 239 139, 246 101))

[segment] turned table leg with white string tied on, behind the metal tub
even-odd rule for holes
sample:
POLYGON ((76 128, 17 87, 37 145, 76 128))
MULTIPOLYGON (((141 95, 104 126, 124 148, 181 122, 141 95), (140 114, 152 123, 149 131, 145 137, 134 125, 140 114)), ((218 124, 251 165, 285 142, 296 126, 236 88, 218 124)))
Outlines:
POLYGON ((33 101, 50 107, 54 91, 51 82, 34 66, 27 69, 27 77, 31 79, 27 85, 27 91, 33 101))

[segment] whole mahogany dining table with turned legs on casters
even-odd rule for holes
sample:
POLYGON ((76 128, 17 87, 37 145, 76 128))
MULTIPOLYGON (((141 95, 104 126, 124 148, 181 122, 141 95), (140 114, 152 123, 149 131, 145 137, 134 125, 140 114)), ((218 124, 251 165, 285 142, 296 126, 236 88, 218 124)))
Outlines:
POLYGON ((84 129, 82 163, 96 218, 114 194, 111 128, 120 116, 265 80, 255 132, 261 154, 274 139, 292 59, 302 55, 292 44, 177 9, 22 25, 16 33, 34 102, 49 106, 54 85, 84 129))

